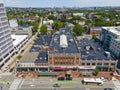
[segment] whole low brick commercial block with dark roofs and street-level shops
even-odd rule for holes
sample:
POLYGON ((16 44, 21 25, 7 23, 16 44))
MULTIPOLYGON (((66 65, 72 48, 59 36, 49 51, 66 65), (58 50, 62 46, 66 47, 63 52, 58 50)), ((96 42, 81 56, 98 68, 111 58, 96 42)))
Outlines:
POLYGON ((32 60, 24 58, 18 63, 18 71, 76 70, 90 72, 91 75, 95 68, 114 71, 117 66, 117 60, 106 55, 107 52, 99 42, 89 37, 75 39, 72 31, 66 29, 60 29, 50 36, 41 36, 28 54, 32 56, 30 53, 36 57, 32 60))

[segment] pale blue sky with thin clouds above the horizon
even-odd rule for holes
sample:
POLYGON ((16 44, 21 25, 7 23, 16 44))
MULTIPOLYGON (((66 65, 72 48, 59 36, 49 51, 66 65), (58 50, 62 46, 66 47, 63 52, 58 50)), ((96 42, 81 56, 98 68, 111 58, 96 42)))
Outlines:
POLYGON ((2 0, 6 7, 120 6, 120 0, 2 0))

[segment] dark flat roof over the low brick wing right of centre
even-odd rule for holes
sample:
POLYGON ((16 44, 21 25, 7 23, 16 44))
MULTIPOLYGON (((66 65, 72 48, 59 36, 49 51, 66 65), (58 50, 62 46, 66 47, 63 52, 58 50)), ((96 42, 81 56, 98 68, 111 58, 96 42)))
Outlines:
POLYGON ((99 42, 81 39, 77 41, 82 60, 114 60, 111 56, 105 55, 105 50, 99 42))

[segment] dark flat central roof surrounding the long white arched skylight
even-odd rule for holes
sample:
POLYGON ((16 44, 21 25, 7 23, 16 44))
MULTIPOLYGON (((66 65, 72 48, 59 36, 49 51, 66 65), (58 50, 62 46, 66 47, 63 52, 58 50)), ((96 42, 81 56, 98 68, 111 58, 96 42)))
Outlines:
POLYGON ((60 29, 52 36, 50 48, 55 49, 54 53, 79 53, 72 31, 66 29, 60 29), (68 47, 64 49, 60 47, 60 36, 63 34, 66 36, 68 43, 68 47))

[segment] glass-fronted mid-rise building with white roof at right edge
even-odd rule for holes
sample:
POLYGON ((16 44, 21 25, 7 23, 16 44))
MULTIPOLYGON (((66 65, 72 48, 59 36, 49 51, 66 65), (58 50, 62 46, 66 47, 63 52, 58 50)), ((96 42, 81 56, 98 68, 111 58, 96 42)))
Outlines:
POLYGON ((100 40, 105 49, 120 58, 120 27, 103 27, 100 40))

